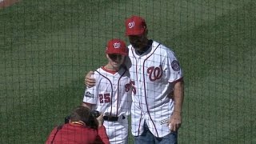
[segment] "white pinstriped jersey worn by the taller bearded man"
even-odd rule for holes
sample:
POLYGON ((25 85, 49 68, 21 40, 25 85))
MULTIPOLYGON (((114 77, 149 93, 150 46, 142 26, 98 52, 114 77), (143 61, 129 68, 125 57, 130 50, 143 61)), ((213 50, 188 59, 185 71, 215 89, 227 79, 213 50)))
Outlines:
POLYGON ((131 118, 132 134, 142 134, 146 120, 152 134, 164 137, 170 134, 168 119, 174 110, 174 102, 167 97, 173 90, 170 82, 182 78, 182 70, 174 52, 166 46, 153 42, 144 54, 136 54, 130 45, 126 61, 133 84, 131 118))

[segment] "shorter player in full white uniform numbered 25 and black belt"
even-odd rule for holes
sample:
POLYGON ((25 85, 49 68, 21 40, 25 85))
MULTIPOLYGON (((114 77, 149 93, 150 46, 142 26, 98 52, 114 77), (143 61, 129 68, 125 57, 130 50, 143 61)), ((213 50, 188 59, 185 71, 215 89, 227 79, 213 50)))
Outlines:
POLYGON ((130 115, 130 74, 123 62, 128 55, 126 43, 111 39, 106 46, 107 62, 94 71, 94 87, 87 87, 83 106, 103 114, 106 134, 111 144, 128 143, 128 115, 130 115))

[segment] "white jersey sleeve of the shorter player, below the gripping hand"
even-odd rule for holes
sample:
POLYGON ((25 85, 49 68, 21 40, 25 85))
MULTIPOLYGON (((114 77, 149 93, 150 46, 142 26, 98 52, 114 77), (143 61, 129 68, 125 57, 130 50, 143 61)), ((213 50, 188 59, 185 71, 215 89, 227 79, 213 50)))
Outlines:
MULTIPOLYGON (((97 82, 97 76, 92 75, 93 78, 95 78, 97 82)), ((98 90, 97 90, 97 83, 96 86, 93 87, 86 87, 85 93, 83 95, 83 100, 82 102, 90 103, 90 104, 97 104, 98 100, 98 90)))

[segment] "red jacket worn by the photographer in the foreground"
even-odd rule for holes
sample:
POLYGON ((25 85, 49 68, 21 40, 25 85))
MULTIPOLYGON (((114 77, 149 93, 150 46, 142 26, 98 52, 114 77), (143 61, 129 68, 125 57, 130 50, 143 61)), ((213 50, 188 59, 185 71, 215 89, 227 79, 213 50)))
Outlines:
POLYGON ((104 126, 100 126, 98 130, 95 130, 86 126, 70 123, 66 123, 59 130, 58 127, 55 127, 54 130, 51 131, 46 144, 51 144, 51 142, 53 142, 53 144, 110 143, 104 126))

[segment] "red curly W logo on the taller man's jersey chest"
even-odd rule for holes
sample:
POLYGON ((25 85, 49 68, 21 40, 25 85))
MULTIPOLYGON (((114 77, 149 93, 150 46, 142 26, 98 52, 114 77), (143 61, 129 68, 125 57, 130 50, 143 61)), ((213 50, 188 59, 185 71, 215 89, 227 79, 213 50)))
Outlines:
POLYGON ((159 67, 151 66, 146 70, 149 75, 150 81, 154 82, 157 79, 162 78, 162 65, 159 67))

